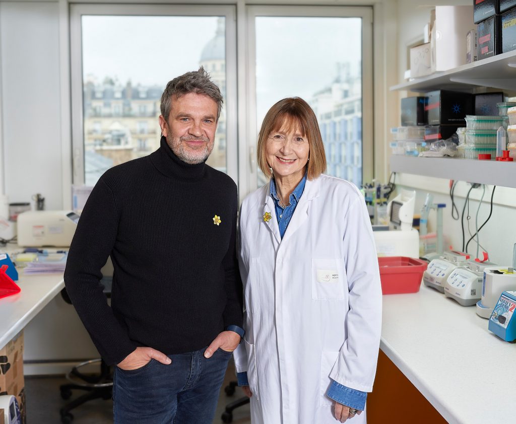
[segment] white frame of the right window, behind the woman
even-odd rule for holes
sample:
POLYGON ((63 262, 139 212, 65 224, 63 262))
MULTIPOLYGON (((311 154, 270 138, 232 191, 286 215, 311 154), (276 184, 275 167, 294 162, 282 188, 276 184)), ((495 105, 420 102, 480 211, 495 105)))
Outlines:
MULTIPOLYGON (((247 9, 247 131, 240 148, 249 155, 249 172, 240 172, 240 199, 257 185, 256 156, 256 17, 329 17, 362 19, 362 181, 372 181, 373 157, 373 7, 353 6, 246 6, 247 9), (365 152, 369 154, 365 155, 365 152)), ((272 106, 272 105, 271 105, 272 106)), ((241 134, 241 133, 240 133, 241 134)), ((240 155, 246 159, 246 155, 240 155)))

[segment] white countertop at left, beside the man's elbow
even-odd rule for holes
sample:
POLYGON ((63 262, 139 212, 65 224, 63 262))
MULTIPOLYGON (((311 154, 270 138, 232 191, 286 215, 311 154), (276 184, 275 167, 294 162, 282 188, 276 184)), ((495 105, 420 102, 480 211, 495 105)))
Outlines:
POLYGON ((24 275, 19 269, 18 274, 21 291, 0 299, 0 349, 65 287, 62 273, 24 275))

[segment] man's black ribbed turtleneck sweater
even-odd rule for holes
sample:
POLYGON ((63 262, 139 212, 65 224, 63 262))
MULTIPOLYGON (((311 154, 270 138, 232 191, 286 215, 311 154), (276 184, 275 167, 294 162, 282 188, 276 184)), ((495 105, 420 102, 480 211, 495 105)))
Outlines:
POLYGON ((186 164, 164 137, 156 152, 102 175, 77 225, 65 284, 108 364, 138 346, 199 350, 227 325, 242 327, 237 208, 228 175, 186 164), (100 285, 109 255, 111 307, 100 285))

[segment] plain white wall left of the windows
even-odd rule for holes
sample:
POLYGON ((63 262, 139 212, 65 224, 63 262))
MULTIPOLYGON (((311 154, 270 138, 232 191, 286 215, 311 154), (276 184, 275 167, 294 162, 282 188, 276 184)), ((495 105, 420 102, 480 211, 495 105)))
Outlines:
POLYGON ((4 185, 10 202, 35 193, 62 208, 57 2, 2 2, 4 185))

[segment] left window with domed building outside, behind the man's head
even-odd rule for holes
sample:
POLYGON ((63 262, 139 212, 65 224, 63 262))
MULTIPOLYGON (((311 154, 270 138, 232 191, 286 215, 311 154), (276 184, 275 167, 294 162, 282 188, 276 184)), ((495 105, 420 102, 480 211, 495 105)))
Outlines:
POLYGON ((219 118, 222 130, 215 136, 207 163, 236 180, 236 117, 228 113, 228 107, 236 104, 234 9, 71 5, 72 137, 74 146, 83 152, 82 158, 74 157, 74 184, 95 184, 109 167, 156 150, 159 105, 166 84, 199 66, 210 72, 224 95, 219 118), (183 48, 181 40, 186 35, 188 46, 183 48), (164 49, 163 40, 171 48, 164 49), (226 142, 228 136, 233 143, 226 142))

